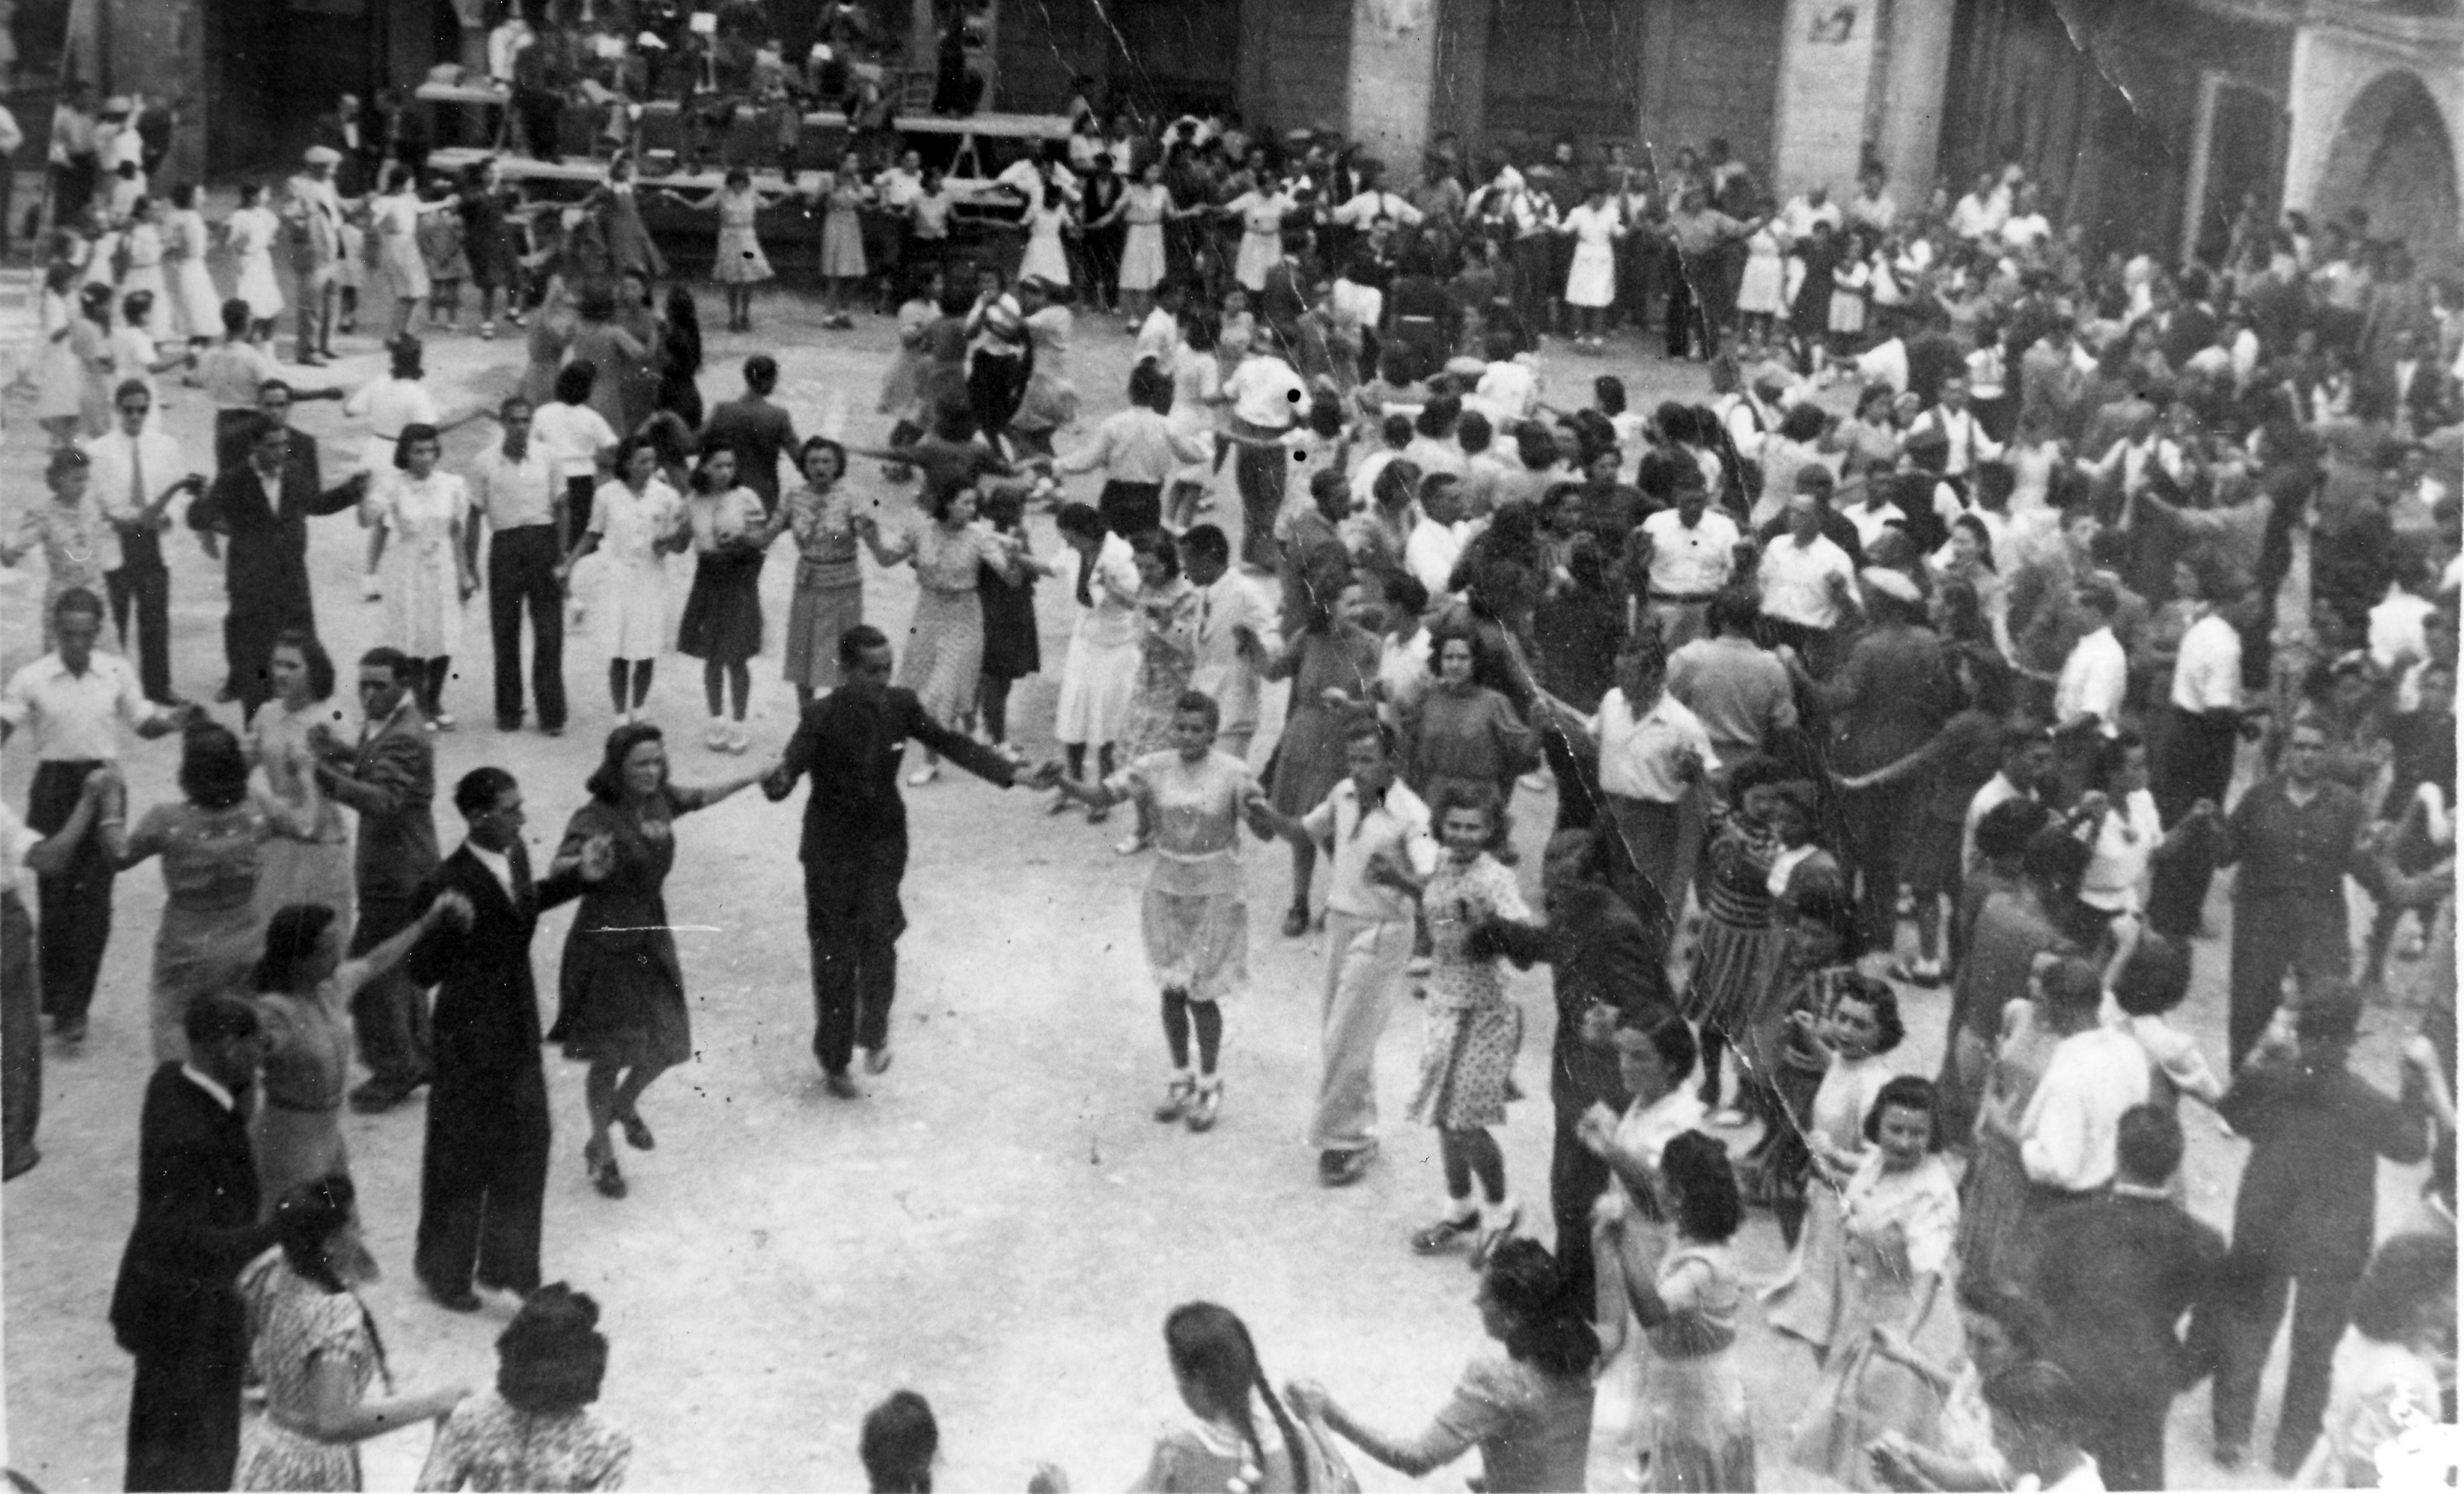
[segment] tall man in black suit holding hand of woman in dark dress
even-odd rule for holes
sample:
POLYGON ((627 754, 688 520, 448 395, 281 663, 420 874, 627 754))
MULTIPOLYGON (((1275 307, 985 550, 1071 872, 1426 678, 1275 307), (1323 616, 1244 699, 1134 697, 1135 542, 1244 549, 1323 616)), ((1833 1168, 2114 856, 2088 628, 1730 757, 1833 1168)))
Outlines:
POLYGON ((559 858, 545 883, 532 883, 513 774, 471 769, 453 786, 453 809, 471 833, 411 900, 426 907, 441 892, 461 892, 471 902, 468 929, 439 929, 411 949, 411 981, 436 986, 436 1087, 411 1265, 441 1307, 476 1312, 473 1265, 480 1287, 522 1297, 540 1289, 547 1075, 530 934, 542 912, 606 875, 606 846, 559 858))

